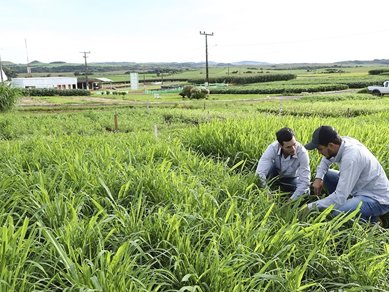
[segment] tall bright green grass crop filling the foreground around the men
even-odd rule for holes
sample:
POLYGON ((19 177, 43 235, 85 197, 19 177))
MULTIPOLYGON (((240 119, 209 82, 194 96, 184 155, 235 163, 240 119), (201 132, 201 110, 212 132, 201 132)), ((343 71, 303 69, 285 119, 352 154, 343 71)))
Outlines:
POLYGON ((389 291, 387 229, 254 176, 276 130, 320 125, 389 175, 388 124, 387 97, 356 93, 2 113, 0 291, 389 291))

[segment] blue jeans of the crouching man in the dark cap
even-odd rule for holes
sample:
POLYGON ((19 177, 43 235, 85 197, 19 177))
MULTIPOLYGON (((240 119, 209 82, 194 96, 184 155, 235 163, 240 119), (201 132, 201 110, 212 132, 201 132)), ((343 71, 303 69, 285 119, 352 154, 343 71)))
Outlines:
MULTIPOLYGON (((329 169, 324 176, 323 183, 330 194, 336 190, 336 185, 339 182, 339 174, 339 170, 329 169)), ((378 216, 389 212, 389 205, 381 205, 378 201, 375 201, 370 197, 353 196, 350 199, 347 199, 344 204, 336 206, 336 210, 333 210, 332 214, 336 216, 340 213, 353 212, 360 202, 362 202, 362 205, 357 216, 360 216, 364 221, 377 222, 378 216)))

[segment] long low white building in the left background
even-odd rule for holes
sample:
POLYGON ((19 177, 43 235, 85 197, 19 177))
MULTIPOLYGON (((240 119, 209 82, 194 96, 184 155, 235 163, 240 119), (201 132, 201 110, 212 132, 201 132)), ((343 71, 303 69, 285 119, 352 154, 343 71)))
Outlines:
POLYGON ((12 83, 20 88, 77 89, 76 77, 31 77, 12 78, 12 83))

